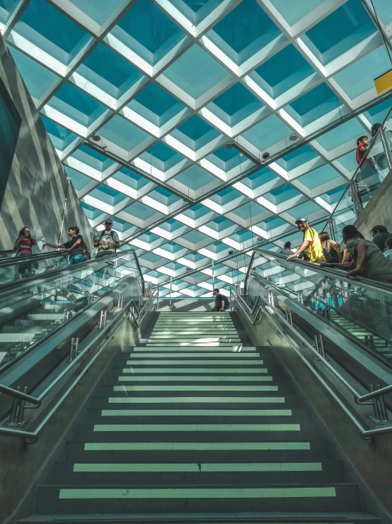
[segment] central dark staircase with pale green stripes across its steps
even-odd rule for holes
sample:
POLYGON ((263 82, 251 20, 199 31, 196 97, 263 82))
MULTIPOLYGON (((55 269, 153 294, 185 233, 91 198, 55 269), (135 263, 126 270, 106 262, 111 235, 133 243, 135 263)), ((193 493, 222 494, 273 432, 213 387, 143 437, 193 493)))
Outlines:
POLYGON ((160 313, 115 355, 24 523, 374 524, 270 347, 160 313))

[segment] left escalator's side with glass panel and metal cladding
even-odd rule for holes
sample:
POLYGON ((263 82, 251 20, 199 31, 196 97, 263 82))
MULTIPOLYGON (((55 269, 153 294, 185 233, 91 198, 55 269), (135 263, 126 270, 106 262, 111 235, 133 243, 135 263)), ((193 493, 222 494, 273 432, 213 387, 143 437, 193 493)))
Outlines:
MULTIPOLYGON (((119 294, 133 297, 135 303, 142 300, 144 280, 134 250, 72 266, 59 264, 62 257, 54 257, 52 269, 46 264, 45 272, 0 285, 4 386, 23 384, 31 391, 64 364, 69 354, 67 333, 77 332, 81 343, 99 322, 100 311, 110 316, 119 294)), ((9 402, 4 403, 0 415, 8 407, 9 402)))

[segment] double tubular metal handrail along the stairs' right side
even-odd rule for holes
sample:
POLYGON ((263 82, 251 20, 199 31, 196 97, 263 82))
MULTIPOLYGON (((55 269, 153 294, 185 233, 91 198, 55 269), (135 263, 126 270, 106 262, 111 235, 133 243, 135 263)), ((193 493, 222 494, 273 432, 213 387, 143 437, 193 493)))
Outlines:
MULTIPOLYGON (((255 323, 255 321, 253 321, 249 316, 248 314, 246 313, 246 310, 243 306, 247 306, 248 309, 250 310, 250 307, 248 306, 248 304, 246 303, 246 301, 243 300, 243 298, 241 297, 241 295, 239 295, 235 290, 234 290, 234 296, 236 298, 236 302, 238 304, 240 304, 242 310, 243 310, 243 313, 246 314, 246 317, 248 318, 248 320, 250 320, 251 323, 255 323)), ((323 364, 325 365, 325 367, 327 367, 330 372, 333 373, 333 375, 335 376, 336 379, 338 379, 340 381, 340 383, 345 386, 351 394, 353 394, 354 396, 354 401, 356 401, 357 403, 361 404, 361 405, 366 405, 364 401, 367 401, 367 400, 370 400, 370 399, 374 399, 374 398, 379 398, 380 396, 384 396, 384 394, 388 393, 389 391, 392 391, 392 385, 391 386, 386 386, 385 388, 382 388, 382 389, 378 389, 376 391, 372 391, 370 394, 366 394, 366 395, 360 395, 359 394, 359 391, 357 391, 351 384, 350 382, 348 382, 345 377, 342 377, 342 375, 333 367, 331 366, 331 364, 328 362, 328 360, 325 359, 325 357, 323 357, 323 355, 321 355, 321 353, 319 353, 309 342, 308 340, 306 340, 306 338, 304 338, 295 328, 294 326, 289 323, 289 321, 284 318, 284 316, 282 315, 282 313, 280 313, 279 311, 277 311, 277 308, 275 308, 275 306, 273 306, 270 302, 267 301, 267 299, 265 299, 264 296, 261 296, 261 295, 258 295, 260 297, 260 299, 262 299, 263 302, 265 302, 266 306, 268 308, 271 309, 271 311, 273 313, 275 313, 275 316, 277 316, 277 318, 279 318, 279 320, 281 320, 282 323, 284 323, 284 325, 289 328, 289 330, 291 330, 293 333, 295 333, 296 337, 299 338, 299 340, 301 340, 301 342, 309 349, 311 350, 311 352, 321 361, 323 362, 323 364)), ((337 394, 335 394, 335 391, 333 391, 332 388, 330 388, 330 386, 328 386, 328 384, 325 382, 325 380, 323 379, 323 377, 321 377, 321 374, 319 374, 317 372, 317 370, 313 367, 313 365, 311 364, 311 362, 309 362, 309 359, 307 359, 304 355, 302 355, 302 353, 298 350, 298 348, 296 347, 296 345, 294 344, 294 342, 292 342, 292 340, 290 340, 289 337, 287 337, 287 335, 285 333, 282 332, 282 329, 280 328, 279 329, 279 325, 277 324, 277 322, 275 321, 275 319, 272 317, 272 315, 267 311, 267 308, 265 306, 258 306, 258 309, 263 311, 263 313, 265 313, 268 318, 271 320, 271 322, 273 323, 273 325, 275 325, 275 328, 277 328, 277 330, 279 330, 279 333, 282 333, 282 336, 287 340, 287 342, 289 343, 289 345, 292 347, 292 349, 294 350, 294 352, 296 352, 296 355, 298 355, 301 360, 306 364, 306 367, 307 369, 309 369, 313 375, 321 382, 321 384, 323 384, 323 386, 325 387, 325 389, 327 389, 328 393, 333 396, 335 402, 337 402, 339 404, 339 406, 342 408, 342 410, 347 414, 347 416, 350 418, 350 420, 352 420, 352 423, 354 423, 354 425, 357 427, 357 429, 359 429, 359 432, 360 432, 360 435, 361 437, 364 439, 364 440, 368 440, 368 441, 371 441, 372 440, 372 437, 376 436, 376 435, 386 435, 386 434, 390 434, 392 433, 392 425, 388 425, 388 426, 385 426, 384 428, 378 428, 378 429, 372 429, 372 430, 367 430, 366 428, 364 428, 364 426, 362 425, 362 423, 359 422, 359 420, 357 420, 357 418, 353 415, 353 413, 350 411, 349 408, 347 408, 347 406, 345 406, 345 403, 342 402, 342 400, 338 397, 337 394)), ((258 313, 256 314, 256 318, 258 317, 258 313)), ((256 320, 255 318, 255 320, 256 320)))

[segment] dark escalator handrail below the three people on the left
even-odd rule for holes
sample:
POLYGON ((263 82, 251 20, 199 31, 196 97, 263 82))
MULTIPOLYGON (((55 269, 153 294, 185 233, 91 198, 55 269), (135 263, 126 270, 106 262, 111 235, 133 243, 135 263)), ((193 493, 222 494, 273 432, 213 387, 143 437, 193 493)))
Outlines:
POLYGON ((32 277, 27 277, 25 279, 13 280, 11 282, 6 282, 6 284, 0 285, 0 297, 6 294, 10 294, 14 291, 22 291, 23 289, 30 289, 31 287, 40 286, 45 284, 47 281, 52 280, 58 275, 67 275, 75 271, 81 271, 83 269, 95 268, 95 267, 106 267, 111 265, 116 259, 121 259, 124 255, 127 254, 134 255, 134 261, 136 262, 137 269, 139 272, 139 277, 141 280, 142 293, 144 294, 144 279, 142 274, 142 268, 140 267, 139 260, 137 260, 137 254, 135 250, 129 249, 125 251, 118 251, 113 253, 113 255, 106 255, 105 257, 95 258, 91 260, 86 260, 84 262, 79 262, 79 264, 74 264, 71 266, 58 267, 56 269, 51 269, 50 271, 40 273, 38 275, 33 275, 32 277))

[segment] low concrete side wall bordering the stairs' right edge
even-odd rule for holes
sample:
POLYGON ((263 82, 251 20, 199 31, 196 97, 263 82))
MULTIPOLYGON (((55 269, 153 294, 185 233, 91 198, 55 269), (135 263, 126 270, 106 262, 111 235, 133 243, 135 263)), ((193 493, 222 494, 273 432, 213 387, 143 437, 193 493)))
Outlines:
MULTIPOLYGON (((271 352, 292 377, 309 407, 313 408, 325 425, 325 430, 335 440, 342 458, 347 461, 347 481, 363 482, 364 511, 380 516, 382 524, 392 522, 391 483, 386 481, 392 478, 391 435, 376 437, 374 442, 363 440, 342 408, 328 395, 321 382, 267 316, 262 314, 258 322, 252 325, 241 307, 236 307, 236 313, 253 345, 270 346, 271 352), (377 499, 384 508, 376 503, 377 499)), ((328 438, 328 435, 325 436, 328 438)))

